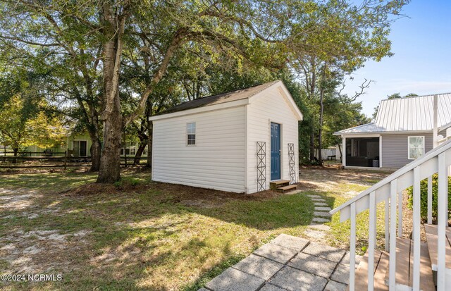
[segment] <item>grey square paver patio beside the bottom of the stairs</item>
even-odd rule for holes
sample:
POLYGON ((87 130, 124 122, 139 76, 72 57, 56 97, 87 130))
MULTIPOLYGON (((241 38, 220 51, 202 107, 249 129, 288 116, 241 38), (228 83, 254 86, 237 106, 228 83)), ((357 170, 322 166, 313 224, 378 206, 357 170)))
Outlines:
POLYGON ((342 249, 282 234, 199 291, 346 290, 349 261, 342 249))

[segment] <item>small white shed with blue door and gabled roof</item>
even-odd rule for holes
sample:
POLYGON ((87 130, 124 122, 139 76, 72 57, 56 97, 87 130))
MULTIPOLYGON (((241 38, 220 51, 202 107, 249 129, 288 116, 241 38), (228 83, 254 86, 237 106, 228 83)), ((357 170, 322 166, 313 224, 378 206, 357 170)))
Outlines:
POLYGON ((280 80, 187 101, 149 120, 154 181, 253 193, 298 180, 302 113, 280 80))

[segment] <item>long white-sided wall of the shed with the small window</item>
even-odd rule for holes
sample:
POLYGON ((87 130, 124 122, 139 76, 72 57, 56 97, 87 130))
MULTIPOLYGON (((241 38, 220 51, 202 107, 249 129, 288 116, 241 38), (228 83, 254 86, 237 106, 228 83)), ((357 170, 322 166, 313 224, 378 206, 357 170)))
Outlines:
POLYGON ((245 106, 154 120, 153 141, 152 180, 245 192, 245 106))

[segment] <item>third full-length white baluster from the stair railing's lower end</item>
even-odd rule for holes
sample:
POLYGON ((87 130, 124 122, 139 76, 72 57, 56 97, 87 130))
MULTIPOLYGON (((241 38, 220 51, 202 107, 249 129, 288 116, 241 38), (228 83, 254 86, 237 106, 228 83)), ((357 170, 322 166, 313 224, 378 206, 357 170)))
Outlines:
POLYGON ((388 286, 390 290, 396 290, 396 194, 397 180, 390 182, 390 259, 388 262, 388 286))

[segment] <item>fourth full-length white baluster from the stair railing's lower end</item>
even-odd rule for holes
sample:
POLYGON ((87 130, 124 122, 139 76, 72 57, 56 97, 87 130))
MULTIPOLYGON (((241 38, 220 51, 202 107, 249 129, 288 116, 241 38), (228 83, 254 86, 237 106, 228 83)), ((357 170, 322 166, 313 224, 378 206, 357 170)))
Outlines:
POLYGON ((414 168, 414 202, 413 202, 413 223, 414 229, 412 238, 414 240, 414 268, 413 268, 413 290, 420 290, 420 224, 421 224, 421 178, 420 178, 420 167, 414 168))

